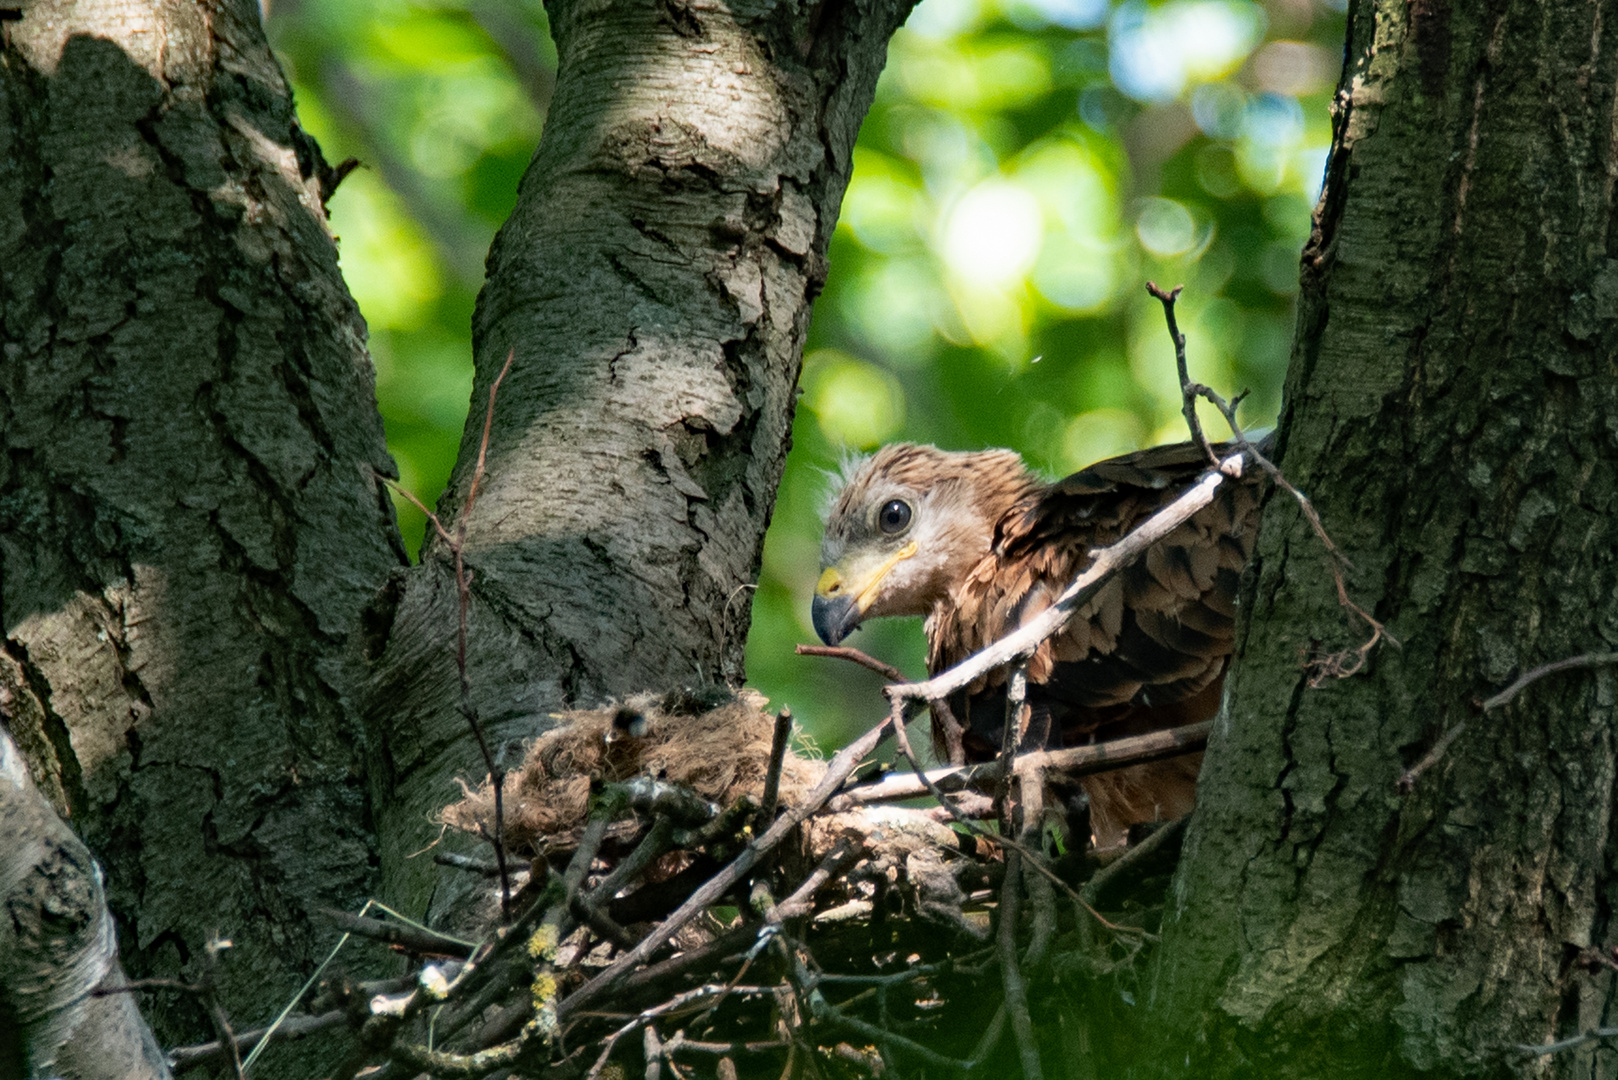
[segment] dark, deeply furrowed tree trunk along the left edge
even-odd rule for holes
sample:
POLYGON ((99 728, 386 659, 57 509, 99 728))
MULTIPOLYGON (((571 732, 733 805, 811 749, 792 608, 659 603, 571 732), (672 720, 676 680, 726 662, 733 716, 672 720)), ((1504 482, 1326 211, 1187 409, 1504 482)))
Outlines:
POLYGON ((0 688, 131 972, 228 936, 256 1018, 375 865, 346 635, 401 555, 364 324, 252 0, 3 34, 0 688))

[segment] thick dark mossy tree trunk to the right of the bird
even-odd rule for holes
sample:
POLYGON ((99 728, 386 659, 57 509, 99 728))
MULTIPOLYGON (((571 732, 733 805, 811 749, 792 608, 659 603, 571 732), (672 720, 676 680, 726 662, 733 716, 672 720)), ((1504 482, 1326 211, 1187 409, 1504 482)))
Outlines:
POLYGON ((1615 1075, 1618 3, 1361 0, 1281 465, 1403 641, 1353 644, 1272 499, 1149 1007, 1150 1075, 1615 1075), (1398 779, 1468 730, 1414 793, 1398 779), (1599 967, 1599 965, 1597 965, 1599 967))

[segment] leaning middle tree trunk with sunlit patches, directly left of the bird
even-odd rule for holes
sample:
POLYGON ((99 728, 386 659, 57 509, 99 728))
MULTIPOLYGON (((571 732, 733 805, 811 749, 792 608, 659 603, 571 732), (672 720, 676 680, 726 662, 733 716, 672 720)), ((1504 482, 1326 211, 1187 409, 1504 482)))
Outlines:
MULTIPOLYGON (((515 350, 468 521, 474 696, 497 738, 561 706, 739 682, 809 306, 908 0, 550 5, 560 68, 489 256, 477 382, 515 350)), ((451 526, 453 528, 453 526, 451 526)), ((369 712, 388 894, 419 910, 430 814, 482 772, 458 716, 445 546, 379 606, 369 712)))

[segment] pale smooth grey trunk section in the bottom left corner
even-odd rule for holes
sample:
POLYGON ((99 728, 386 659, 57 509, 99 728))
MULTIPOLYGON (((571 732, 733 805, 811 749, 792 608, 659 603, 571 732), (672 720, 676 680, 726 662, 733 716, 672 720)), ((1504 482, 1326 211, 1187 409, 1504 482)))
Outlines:
POLYGON ((125 984, 89 848, 0 729, 0 1077, 159 1080, 168 1065, 125 984))

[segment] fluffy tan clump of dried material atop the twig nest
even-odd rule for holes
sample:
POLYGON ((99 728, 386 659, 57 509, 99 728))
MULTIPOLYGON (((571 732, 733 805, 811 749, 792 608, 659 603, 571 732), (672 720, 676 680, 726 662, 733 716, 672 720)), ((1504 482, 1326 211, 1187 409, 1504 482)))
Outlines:
MULTIPOLYGON (((743 690, 718 698, 693 691, 637 695, 623 706, 560 714, 561 725, 527 748, 505 780, 505 837, 513 850, 537 850, 544 837, 584 824, 591 779, 650 776, 683 784, 722 806, 764 795, 775 717, 764 695, 743 690)), ((825 772, 791 748, 781 763, 780 800, 793 803, 825 772)), ((485 779, 447 806, 451 829, 493 834, 493 789, 485 779)))

